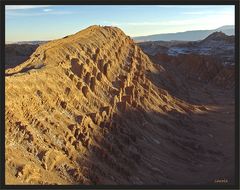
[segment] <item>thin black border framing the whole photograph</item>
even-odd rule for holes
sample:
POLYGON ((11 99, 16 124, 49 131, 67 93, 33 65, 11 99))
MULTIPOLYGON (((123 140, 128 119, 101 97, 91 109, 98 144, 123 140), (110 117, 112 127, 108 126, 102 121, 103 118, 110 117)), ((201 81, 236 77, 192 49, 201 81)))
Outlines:
POLYGON ((0 183, 1 189, 240 189, 239 187, 239 0, 0 0, 0 183), (235 184, 212 185, 6 185, 5 184, 5 6, 6 5, 234 5, 235 6, 235 184))

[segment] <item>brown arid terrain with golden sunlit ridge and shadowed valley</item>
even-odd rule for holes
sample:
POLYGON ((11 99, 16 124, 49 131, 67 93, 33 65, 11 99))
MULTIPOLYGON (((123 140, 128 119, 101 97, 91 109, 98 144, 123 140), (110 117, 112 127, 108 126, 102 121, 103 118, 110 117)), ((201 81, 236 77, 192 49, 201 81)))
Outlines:
POLYGON ((9 61, 6 184, 233 184, 233 51, 197 50, 222 36, 179 53, 91 26, 9 61))

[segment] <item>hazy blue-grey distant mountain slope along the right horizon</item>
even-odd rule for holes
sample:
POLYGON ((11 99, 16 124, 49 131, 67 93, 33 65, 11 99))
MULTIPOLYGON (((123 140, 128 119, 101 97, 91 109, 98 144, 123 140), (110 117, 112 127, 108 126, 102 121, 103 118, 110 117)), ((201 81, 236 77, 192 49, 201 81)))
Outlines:
POLYGON ((234 26, 233 25, 226 25, 222 26, 217 29, 213 30, 193 30, 193 31, 186 31, 186 32, 177 32, 177 33, 168 33, 168 34, 155 34, 149 36, 139 36, 133 37, 134 41, 136 42, 145 42, 145 41, 198 41, 203 40, 210 34, 214 32, 223 32, 226 35, 234 35, 234 26))

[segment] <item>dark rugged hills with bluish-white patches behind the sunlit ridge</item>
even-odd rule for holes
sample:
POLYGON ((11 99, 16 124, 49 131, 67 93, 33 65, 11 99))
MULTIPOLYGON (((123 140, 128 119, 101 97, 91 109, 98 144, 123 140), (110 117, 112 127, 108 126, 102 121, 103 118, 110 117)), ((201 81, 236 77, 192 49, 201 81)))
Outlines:
POLYGON ((199 41, 147 41, 139 42, 141 49, 150 56, 179 55, 212 56, 223 65, 234 65, 235 37, 223 32, 214 32, 207 38, 199 41))

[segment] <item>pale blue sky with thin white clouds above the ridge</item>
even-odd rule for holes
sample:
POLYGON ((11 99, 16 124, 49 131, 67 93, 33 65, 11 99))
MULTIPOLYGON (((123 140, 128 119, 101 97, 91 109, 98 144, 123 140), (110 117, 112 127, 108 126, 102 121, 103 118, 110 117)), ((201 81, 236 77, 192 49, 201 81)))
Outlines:
POLYGON ((7 42, 62 38, 94 24, 117 26, 131 37, 215 29, 234 25, 234 6, 6 6, 7 42))

